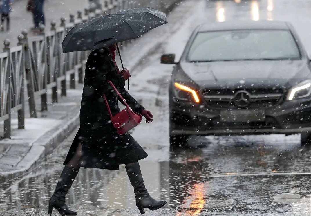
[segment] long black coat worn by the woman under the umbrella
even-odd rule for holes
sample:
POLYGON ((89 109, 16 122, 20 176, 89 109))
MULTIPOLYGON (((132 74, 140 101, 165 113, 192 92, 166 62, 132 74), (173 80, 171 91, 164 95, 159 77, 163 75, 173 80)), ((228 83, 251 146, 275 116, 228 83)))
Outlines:
POLYGON ((117 73, 109 51, 92 51, 86 62, 80 129, 64 164, 70 161, 79 142, 82 144, 84 168, 118 170, 119 164, 135 162, 148 156, 130 134, 118 135, 113 127, 103 94, 107 97, 113 115, 120 111, 119 98, 107 80, 114 83, 132 110, 138 113, 144 110, 144 107, 124 89, 125 81, 117 73))

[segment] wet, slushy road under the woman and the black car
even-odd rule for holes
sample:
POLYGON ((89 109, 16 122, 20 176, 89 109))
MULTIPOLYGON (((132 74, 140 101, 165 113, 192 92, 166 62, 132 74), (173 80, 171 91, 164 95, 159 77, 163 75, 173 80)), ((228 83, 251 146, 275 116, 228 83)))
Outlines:
MULTIPOLYGON (((159 58, 163 53, 180 55, 197 22, 288 20, 311 51, 311 2, 239 2, 184 1, 176 10, 188 11, 191 16, 135 68, 131 92, 156 118, 152 124, 137 127, 133 137, 149 154, 141 161, 149 192, 168 201, 165 208, 146 210, 146 215, 310 215, 311 148, 301 147, 299 135, 193 137, 191 145, 206 146, 169 151, 167 82, 172 67, 160 65, 159 58), (301 198, 273 198, 281 193, 295 193, 301 198)), ((1 185, 1 216, 46 215, 47 202, 74 135, 68 136, 42 167, 1 185)), ((67 203, 82 216, 139 215, 132 190, 123 166, 119 171, 81 169, 67 203)))

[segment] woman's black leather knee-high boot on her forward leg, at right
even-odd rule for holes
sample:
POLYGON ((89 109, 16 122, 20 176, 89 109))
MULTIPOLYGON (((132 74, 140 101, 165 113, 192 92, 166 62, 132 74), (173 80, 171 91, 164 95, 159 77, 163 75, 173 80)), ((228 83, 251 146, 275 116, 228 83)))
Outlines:
POLYGON ((154 211, 156 209, 160 209, 166 204, 166 201, 164 200, 157 201, 149 195, 144 185, 142 172, 140 170, 138 162, 131 166, 126 166, 125 168, 128 173, 130 182, 134 187, 134 193, 136 196, 136 206, 141 214, 145 214, 144 208, 154 211))

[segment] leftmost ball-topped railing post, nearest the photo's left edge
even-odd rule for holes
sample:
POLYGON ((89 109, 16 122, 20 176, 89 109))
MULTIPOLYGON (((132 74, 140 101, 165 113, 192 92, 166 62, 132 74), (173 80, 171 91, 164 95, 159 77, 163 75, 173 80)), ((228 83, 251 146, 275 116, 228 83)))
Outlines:
MULTIPOLYGON (((3 48, 3 52, 7 52, 8 53, 8 72, 9 73, 9 77, 8 77, 8 98, 7 98, 7 110, 6 113, 8 113, 8 119, 4 120, 4 133, 3 136, 4 138, 11 138, 11 107, 12 107, 12 95, 11 95, 11 88, 12 88, 12 84, 11 84, 11 62, 10 62, 10 40, 6 39, 4 40, 3 44, 4 44, 4 48, 3 48)), ((6 103, 6 101, 3 101, 4 103, 6 103)))

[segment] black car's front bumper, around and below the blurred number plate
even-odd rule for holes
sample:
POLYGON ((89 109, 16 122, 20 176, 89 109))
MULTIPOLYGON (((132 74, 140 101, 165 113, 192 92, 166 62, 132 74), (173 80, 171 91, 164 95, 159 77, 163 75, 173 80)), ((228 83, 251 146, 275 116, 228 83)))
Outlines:
POLYGON ((188 116, 188 124, 174 122, 171 134, 296 134, 311 132, 311 102, 306 99, 284 101, 262 108, 265 122, 222 122, 220 109, 207 104, 172 101, 171 113, 188 116))

